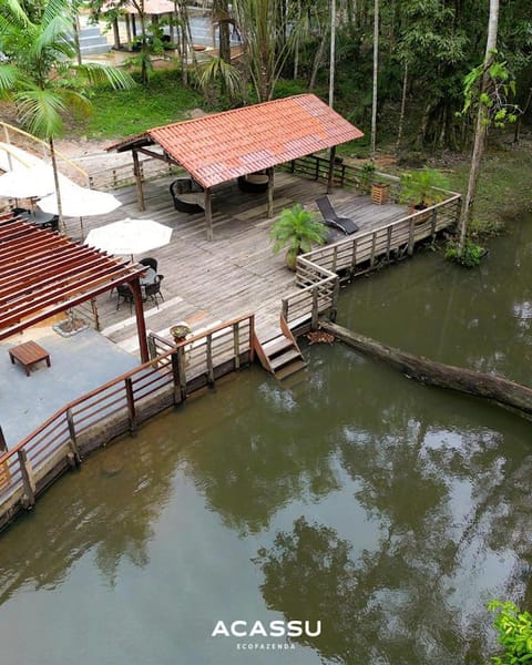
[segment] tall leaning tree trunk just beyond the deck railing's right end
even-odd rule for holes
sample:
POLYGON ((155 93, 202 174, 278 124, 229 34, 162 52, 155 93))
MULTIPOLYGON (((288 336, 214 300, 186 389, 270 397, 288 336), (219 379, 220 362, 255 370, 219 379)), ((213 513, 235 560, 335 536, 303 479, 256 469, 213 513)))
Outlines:
MULTIPOLYGON (((485 92, 490 84, 490 65, 493 62, 497 49, 497 31, 499 25, 499 0, 490 0, 490 18, 488 21, 488 39, 485 42, 484 72, 480 86, 480 95, 485 92)), ((474 131, 473 154, 471 156, 471 170, 469 172, 468 192, 460 214, 460 241, 458 243, 458 256, 462 256, 466 246, 468 225, 473 215, 474 196, 480 175, 480 162, 484 152, 485 135, 489 126, 490 110, 479 96, 479 111, 477 113, 477 129, 474 131)))

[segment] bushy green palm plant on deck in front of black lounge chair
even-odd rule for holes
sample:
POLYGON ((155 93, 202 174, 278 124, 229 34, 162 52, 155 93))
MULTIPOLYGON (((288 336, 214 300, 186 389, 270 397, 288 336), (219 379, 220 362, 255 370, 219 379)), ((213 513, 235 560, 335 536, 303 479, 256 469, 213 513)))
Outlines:
POLYGON ((280 213, 270 228, 269 237, 274 241, 274 254, 287 247, 286 265, 295 270, 297 255, 310 252, 313 245, 323 245, 327 233, 325 224, 316 221, 303 205, 296 204, 280 213))

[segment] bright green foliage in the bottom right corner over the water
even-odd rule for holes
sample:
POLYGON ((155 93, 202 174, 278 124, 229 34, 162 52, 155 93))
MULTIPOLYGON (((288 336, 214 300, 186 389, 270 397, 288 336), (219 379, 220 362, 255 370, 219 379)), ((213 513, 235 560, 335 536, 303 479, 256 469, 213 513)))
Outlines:
POLYGON ((520 665, 532 662, 532 615, 521 612, 510 601, 490 601, 490 612, 497 612, 493 625, 498 642, 504 648, 502 656, 493 656, 495 665, 520 665))

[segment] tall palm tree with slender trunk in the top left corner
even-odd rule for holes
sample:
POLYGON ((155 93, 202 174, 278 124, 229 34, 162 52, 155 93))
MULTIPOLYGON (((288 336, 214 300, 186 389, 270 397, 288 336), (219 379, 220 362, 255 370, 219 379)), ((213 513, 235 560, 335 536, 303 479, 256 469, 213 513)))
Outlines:
POLYGON ((75 0, 48 0, 27 3, 2 0, 0 8, 0 94, 11 99, 21 125, 34 136, 48 141, 55 181, 60 224, 61 192, 53 140, 63 131, 68 112, 89 113, 86 90, 108 83, 131 88, 131 76, 115 68, 75 64, 72 32, 75 0))

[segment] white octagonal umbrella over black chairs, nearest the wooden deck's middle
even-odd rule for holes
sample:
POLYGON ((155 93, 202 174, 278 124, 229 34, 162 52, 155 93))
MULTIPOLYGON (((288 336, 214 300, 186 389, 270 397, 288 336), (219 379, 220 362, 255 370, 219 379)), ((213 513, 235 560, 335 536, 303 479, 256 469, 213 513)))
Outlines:
POLYGON ((93 228, 86 236, 90 247, 104 249, 110 254, 143 254, 170 243, 172 228, 152 219, 121 219, 100 228, 93 228))

